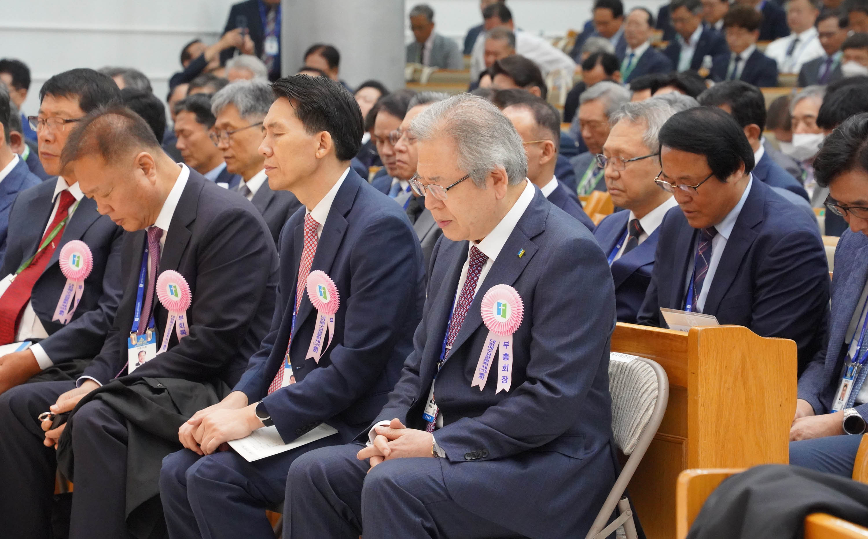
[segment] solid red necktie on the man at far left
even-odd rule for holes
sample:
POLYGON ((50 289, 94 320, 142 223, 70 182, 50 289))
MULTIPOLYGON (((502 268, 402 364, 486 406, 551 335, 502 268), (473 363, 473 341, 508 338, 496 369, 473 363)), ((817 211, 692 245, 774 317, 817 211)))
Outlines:
MULTIPOLYGON (((62 220, 66 219, 67 215, 69 215, 69 207, 75 201, 76 197, 69 193, 69 190, 61 191, 60 203, 57 206, 55 217, 45 230, 43 239, 36 246, 37 249, 49 237, 51 231, 62 220)), ((18 324, 21 322, 24 307, 30 301, 33 285, 36 284, 36 280, 43 274, 45 267, 49 265, 51 255, 54 254, 57 244, 60 243, 65 228, 66 225, 63 225, 60 231, 57 232, 54 240, 51 240, 49 245, 36 254, 33 260, 30 260, 30 266, 27 266, 21 273, 18 273, 15 280, 12 281, 9 288, 3 293, 3 300, 0 301, 0 345, 8 345, 15 342, 18 324)))

